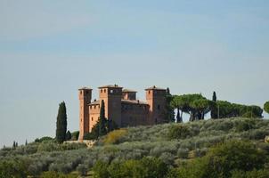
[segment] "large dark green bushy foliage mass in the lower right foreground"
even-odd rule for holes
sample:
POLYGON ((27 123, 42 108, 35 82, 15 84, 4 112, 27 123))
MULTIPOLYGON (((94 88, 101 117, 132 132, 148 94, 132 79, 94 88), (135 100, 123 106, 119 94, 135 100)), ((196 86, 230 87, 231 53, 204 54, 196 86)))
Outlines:
POLYGON ((251 142, 230 141, 209 150, 179 169, 178 177, 231 177, 232 170, 251 171, 265 164, 265 152, 251 142))

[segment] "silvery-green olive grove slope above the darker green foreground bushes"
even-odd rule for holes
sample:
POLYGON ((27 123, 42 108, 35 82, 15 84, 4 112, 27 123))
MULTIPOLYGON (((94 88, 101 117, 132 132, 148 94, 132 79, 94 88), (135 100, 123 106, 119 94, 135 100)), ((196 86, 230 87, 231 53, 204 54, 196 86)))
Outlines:
POLYGON ((168 167, 179 167, 188 160, 205 156, 217 143, 231 140, 254 142, 268 155, 265 135, 269 135, 269 120, 256 118, 130 127, 102 137, 91 149, 86 149, 84 144, 60 145, 53 141, 4 148, 0 150, 0 170, 1 166, 3 170, 4 165, 10 164, 18 166, 20 176, 56 171, 73 172, 76 177, 77 172, 83 174, 91 170, 97 161, 110 164, 148 156, 159 158, 168 167))

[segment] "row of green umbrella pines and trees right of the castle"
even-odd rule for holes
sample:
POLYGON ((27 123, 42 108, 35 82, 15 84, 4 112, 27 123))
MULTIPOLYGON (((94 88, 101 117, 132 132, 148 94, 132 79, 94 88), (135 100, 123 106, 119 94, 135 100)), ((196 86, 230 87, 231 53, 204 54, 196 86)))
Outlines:
MULTIPOLYGON (((167 94, 168 95, 168 94, 167 94)), ((256 105, 243 105, 231 103, 229 101, 217 101, 216 92, 213 93, 212 100, 208 100, 201 93, 168 95, 167 105, 170 111, 176 110, 176 122, 183 122, 183 113, 190 115, 189 121, 201 120, 211 111, 211 118, 224 117, 263 117, 263 109, 256 105)), ((264 109, 269 113, 269 101, 265 102, 264 109)), ((167 117, 171 116, 167 111, 167 117)), ((173 118, 172 118, 173 117, 173 118)))

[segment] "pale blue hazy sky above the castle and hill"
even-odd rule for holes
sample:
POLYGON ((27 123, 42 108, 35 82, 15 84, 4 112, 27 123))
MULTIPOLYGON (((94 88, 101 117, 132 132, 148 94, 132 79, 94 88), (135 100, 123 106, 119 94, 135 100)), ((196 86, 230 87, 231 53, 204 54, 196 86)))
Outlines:
MULTIPOLYGON (((268 0, 0 0, 0 147, 54 136, 77 89, 169 87, 263 107, 268 0)), ((264 115, 269 118, 268 115, 264 115)), ((185 116, 185 120, 187 116, 185 116)))

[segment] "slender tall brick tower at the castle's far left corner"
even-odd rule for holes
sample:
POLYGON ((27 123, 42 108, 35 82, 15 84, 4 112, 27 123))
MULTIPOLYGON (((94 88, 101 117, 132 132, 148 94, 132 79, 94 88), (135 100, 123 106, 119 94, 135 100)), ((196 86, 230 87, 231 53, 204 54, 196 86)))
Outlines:
POLYGON ((89 132, 89 107, 92 100, 91 88, 78 89, 79 98, 79 141, 82 141, 84 135, 89 132))

